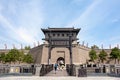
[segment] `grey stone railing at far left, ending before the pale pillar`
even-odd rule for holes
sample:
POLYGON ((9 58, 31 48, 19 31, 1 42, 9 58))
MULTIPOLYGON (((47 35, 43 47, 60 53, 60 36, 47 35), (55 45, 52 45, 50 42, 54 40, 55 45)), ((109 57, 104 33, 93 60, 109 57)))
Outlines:
POLYGON ((35 75, 35 70, 33 64, 0 64, 0 75, 35 75))

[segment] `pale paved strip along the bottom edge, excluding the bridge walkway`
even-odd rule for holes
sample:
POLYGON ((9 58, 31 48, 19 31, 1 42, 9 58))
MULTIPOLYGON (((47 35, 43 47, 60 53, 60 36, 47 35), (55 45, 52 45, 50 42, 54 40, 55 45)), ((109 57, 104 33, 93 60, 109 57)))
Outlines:
POLYGON ((51 76, 9 76, 0 77, 0 80, 120 80, 117 77, 51 77, 51 76))

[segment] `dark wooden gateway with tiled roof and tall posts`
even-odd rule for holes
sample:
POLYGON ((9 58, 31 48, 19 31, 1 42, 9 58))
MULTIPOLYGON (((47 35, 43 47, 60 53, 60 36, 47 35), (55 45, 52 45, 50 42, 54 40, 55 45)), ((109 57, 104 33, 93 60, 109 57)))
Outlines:
MULTIPOLYGON (((43 33, 45 34, 44 40, 48 42, 48 64, 53 63, 53 59, 51 56, 57 55, 67 55, 69 57, 70 64, 73 64, 72 62, 72 42, 77 41, 77 34, 80 29, 74 29, 74 28, 48 28, 48 29, 42 29, 43 33), (51 52, 54 48, 68 48, 69 53, 65 53, 66 51, 64 49, 57 50, 53 55, 51 52)), ((59 56, 60 57, 60 56, 59 56)), ((55 63, 55 62, 54 62, 55 63)))

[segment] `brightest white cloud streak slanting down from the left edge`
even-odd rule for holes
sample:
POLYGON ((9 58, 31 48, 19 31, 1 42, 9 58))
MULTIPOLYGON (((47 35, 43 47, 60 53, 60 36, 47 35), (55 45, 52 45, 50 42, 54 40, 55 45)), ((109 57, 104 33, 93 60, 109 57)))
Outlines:
POLYGON ((16 28, 2 15, 0 15, 0 23, 3 24, 4 28, 10 31, 10 34, 8 35, 9 37, 11 37, 11 39, 13 39, 13 43, 14 40, 20 43, 28 43, 28 44, 31 44, 36 41, 34 38, 36 34, 31 34, 29 30, 26 30, 26 28, 23 27, 16 28))

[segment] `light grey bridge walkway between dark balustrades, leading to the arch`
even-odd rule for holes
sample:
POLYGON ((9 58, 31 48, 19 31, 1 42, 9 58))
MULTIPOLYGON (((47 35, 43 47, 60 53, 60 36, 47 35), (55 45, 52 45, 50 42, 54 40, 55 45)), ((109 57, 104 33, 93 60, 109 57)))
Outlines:
POLYGON ((68 76, 68 74, 67 74, 66 70, 64 69, 64 70, 57 70, 56 73, 53 70, 53 71, 49 72, 48 74, 46 74, 45 76, 64 76, 65 77, 65 76, 68 76))

